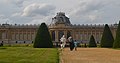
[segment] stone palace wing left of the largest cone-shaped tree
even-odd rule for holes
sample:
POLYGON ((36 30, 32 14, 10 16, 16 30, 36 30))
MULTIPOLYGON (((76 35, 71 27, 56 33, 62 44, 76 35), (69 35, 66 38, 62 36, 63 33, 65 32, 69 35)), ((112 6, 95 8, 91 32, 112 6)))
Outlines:
POLYGON ((39 25, 0 25, 0 42, 6 44, 32 43, 39 25))

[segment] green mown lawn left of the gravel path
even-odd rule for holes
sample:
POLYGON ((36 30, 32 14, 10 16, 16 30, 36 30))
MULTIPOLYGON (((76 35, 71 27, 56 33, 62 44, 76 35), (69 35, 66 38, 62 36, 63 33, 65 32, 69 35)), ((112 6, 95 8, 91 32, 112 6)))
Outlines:
POLYGON ((56 48, 0 47, 0 63, 59 63, 56 48))

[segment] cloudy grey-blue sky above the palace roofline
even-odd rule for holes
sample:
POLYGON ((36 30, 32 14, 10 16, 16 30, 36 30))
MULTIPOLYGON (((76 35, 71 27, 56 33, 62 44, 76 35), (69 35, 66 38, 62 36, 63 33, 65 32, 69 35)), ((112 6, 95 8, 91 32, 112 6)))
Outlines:
POLYGON ((0 0, 1 24, 50 24, 57 12, 72 24, 115 24, 120 0, 0 0))

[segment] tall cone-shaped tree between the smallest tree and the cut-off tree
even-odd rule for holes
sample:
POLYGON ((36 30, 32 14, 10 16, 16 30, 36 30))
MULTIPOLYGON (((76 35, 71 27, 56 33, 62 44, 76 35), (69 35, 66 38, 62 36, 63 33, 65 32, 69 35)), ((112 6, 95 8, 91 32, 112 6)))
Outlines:
POLYGON ((110 30, 108 24, 105 24, 100 46, 111 48, 111 47, 113 47, 113 42, 114 42, 114 38, 111 33, 111 30, 110 30))

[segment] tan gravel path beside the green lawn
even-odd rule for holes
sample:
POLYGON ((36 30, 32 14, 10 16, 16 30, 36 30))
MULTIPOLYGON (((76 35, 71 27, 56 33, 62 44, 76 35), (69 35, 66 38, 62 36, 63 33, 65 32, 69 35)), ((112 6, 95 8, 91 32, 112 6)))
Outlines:
POLYGON ((120 63, 120 50, 109 48, 65 48, 60 53, 60 63, 120 63))

